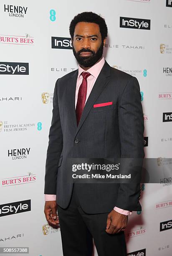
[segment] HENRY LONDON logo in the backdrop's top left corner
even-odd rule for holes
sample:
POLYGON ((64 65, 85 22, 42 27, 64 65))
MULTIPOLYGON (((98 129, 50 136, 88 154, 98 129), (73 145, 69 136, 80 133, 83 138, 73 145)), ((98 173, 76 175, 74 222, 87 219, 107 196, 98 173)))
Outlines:
POLYGON ((24 18, 28 7, 24 6, 15 6, 15 5, 4 5, 4 12, 8 13, 11 17, 24 18))

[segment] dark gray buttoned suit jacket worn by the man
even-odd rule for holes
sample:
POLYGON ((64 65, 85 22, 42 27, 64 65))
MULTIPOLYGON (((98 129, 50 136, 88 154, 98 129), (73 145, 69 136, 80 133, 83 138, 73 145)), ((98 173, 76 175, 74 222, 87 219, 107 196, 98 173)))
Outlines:
MULTIPOLYGON (((59 78, 53 96, 53 117, 46 158, 45 194, 56 195, 66 208, 73 183, 68 158, 144 158, 144 118, 137 79, 105 61, 77 127, 75 92, 78 70, 59 78), (94 108, 94 104, 113 105, 94 108)), ((110 212, 114 206, 141 210, 140 183, 76 184, 87 213, 110 212)))

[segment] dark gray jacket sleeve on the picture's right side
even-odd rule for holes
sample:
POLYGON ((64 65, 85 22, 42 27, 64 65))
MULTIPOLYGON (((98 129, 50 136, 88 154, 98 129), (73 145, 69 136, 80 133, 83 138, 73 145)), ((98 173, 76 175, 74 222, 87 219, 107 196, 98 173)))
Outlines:
MULTIPOLYGON (((136 77, 131 77, 124 87, 118 106, 119 134, 122 158, 144 158, 144 117, 140 87, 136 77)), ((142 168, 138 168, 139 175, 142 168)), ((140 175, 141 177, 141 175, 140 175)), ((121 183, 116 207, 137 211, 141 208, 140 180, 136 183, 121 183)))

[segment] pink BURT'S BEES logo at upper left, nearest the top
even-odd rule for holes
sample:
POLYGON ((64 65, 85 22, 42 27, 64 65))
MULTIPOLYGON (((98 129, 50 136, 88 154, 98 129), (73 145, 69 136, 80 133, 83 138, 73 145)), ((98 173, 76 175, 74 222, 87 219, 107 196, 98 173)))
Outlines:
POLYGON ((23 45, 33 45, 34 38, 28 33, 25 33, 25 36, 8 36, 0 35, 1 44, 23 44, 23 45))

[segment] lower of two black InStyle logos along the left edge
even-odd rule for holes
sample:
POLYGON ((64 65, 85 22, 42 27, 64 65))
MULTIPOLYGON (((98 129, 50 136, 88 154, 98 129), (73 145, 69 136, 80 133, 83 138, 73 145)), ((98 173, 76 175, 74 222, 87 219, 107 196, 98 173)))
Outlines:
POLYGON ((31 200, 24 200, 0 205, 0 217, 31 210, 31 200))

